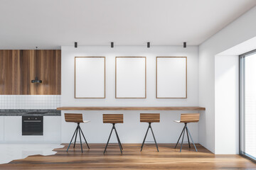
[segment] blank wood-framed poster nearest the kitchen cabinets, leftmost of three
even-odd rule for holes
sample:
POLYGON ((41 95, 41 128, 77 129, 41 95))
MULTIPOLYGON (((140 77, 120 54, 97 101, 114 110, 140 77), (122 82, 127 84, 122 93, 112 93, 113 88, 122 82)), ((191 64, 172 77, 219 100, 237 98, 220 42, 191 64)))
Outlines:
POLYGON ((105 98, 105 57, 75 57, 75 98, 105 98))

